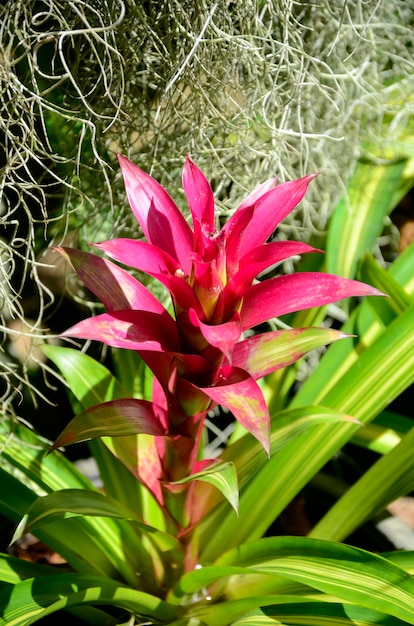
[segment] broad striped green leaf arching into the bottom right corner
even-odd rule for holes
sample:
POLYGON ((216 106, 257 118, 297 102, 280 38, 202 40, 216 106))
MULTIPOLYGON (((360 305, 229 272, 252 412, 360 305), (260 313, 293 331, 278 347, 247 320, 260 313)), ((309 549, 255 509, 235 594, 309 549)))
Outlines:
MULTIPOLYGON (((238 546, 216 560, 211 569, 246 567, 286 576, 347 602, 414 624, 414 577, 383 557, 329 541, 303 537, 271 537, 238 546)), ((184 580, 197 586, 191 572, 184 580)), ((237 584, 234 580, 230 584, 237 584)), ((188 586, 188 584, 187 584, 188 586)), ((254 586, 252 594, 254 593, 254 586)))

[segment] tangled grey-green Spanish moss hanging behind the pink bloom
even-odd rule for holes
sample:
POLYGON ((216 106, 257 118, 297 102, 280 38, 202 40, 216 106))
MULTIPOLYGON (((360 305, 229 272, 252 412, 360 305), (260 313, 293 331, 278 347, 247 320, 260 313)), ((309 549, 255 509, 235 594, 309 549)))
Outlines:
POLYGON ((4 3, 3 399, 32 363, 10 354, 16 320, 44 337, 62 294, 45 248, 135 230, 115 150, 178 202, 190 152, 223 211, 269 176, 321 170, 279 234, 322 236, 361 150, 397 141, 412 114, 413 21, 405 0, 4 3))

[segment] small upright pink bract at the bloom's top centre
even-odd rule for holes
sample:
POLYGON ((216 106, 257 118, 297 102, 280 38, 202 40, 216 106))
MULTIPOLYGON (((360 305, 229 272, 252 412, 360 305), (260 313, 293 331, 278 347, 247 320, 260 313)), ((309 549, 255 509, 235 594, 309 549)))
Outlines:
POLYGON ((204 227, 205 234, 214 232, 214 196, 203 172, 187 157, 183 169, 183 188, 193 218, 194 232, 204 227))

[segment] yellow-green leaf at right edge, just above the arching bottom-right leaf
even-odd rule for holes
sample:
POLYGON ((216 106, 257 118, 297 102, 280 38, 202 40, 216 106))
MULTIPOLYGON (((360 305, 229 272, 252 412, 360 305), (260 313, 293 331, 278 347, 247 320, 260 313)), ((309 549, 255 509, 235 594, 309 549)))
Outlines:
POLYGON ((342 541, 398 497, 414 490, 414 428, 338 500, 310 532, 342 541))

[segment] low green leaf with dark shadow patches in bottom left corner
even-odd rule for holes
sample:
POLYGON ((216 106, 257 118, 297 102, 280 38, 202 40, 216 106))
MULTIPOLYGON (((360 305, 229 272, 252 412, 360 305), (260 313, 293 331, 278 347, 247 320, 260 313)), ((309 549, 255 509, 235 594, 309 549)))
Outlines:
POLYGON ((107 605, 145 620, 172 623, 182 610, 150 594, 100 576, 62 574, 28 579, 0 590, 1 626, 28 626, 62 609, 107 605))

